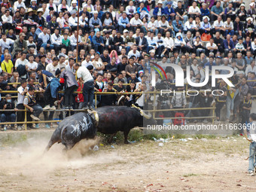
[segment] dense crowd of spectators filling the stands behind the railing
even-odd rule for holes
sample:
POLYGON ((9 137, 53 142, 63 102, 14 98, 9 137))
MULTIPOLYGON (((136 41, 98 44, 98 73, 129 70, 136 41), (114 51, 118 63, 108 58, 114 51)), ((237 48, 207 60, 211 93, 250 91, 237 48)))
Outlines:
MULTIPOLYGON (((152 62, 160 66, 175 63, 185 76, 190 66, 194 82, 204 81, 206 66, 210 70, 212 66, 232 67, 235 75, 230 81, 236 87, 218 81, 216 88, 224 96, 190 96, 188 107, 216 102, 217 120, 224 105, 227 120, 230 113, 236 119, 238 112, 244 122, 248 120, 248 103, 256 93, 254 0, 249 8, 242 0, 81 0, 80 5, 75 0, 3 0, 0 7, 0 88, 18 90, 18 94, 1 93, 5 99, 0 108, 15 109, 2 111, 1 122, 15 122, 17 109, 25 108, 30 111, 28 120, 40 120, 43 109, 44 120, 52 120, 56 108, 94 108, 117 105, 121 100, 123 105, 145 108, 149 95, 106 94, 97 96, 95 103, 93 93, 153 90, 149 85, 156 69, 152 62), (58 93, 62 88, 65 92, 58 93), (75 90, 83 93, 75 94, 75 90)), ((162 83, 167 82, 171 90, 186 89, 173 86, 174 70, 164 69, 167 80, 162 83)), ((156 76, 158 84, 160 76, 156 76)), ((185 107, 185 100, 174 96, 169 107, 185 107)), ((191 110, 186 115, 203 114, 209 110, 191 110)), ((17 121, 23 120, 24 112, 18 111, 17 121)), ((29 127, 37 128, 38 123, 29 127)), ((17 130, 22 129, 18 124, 17 130)))

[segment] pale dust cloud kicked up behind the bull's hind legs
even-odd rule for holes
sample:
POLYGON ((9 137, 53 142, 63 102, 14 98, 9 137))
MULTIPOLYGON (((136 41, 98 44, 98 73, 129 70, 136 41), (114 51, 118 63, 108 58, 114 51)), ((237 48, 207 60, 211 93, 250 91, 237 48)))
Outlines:
POLYGON ((84 139, 69 151, 64 151, 61 143, 53 145, 44 153, 48 139, 28 139, 14 147, 0 149, 1 175, 24 175, 30 178, 47 177, 61 169, 79 169, 99 163, 113 163, 120 160, 116 152, 107 152, 99 148, 99 139, 84 139))

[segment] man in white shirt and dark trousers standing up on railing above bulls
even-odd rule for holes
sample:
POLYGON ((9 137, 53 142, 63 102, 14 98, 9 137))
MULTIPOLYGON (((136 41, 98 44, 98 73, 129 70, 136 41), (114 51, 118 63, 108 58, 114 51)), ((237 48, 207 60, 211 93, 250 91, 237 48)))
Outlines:
POLYGON ((85 108, 88 106, 89 108, 93 108, 93 94, 94 94, 94 81, 93 76, 90 74, 89 70, 84 66, 79 66, 75 64, 74 69, 77 71, 77 77, 79 79, 79 83, 84 83, 83 95, 84 95, 84 105, 85 108))

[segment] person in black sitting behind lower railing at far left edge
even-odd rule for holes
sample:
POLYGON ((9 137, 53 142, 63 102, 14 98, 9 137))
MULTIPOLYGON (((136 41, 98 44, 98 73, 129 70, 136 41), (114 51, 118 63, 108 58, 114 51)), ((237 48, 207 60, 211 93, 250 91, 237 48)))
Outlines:
MULTIPOLYGON (((1 123, 5 122, 15 122, 16 121, 16 112, 17 108, 15 108, 15 104, 11 99, 11 95, 7 94, 5 96, 5 100, 1 102, 0 108, 2 109, 1 114, 1 123), (5 111, 5 109, 14 109, 15 111, 5 111)), ((4 128, 6 125, 2 125, 2 128, 4 128)), ((14 124, 11 124, 11 129, 14 128, 14 124)))

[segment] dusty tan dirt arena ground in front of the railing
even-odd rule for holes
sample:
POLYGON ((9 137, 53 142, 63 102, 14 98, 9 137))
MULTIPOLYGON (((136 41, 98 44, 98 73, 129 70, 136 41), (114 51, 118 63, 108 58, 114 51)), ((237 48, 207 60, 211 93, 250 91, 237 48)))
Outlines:
POLYGON ((256 176, 247 174, 249 143, 241 136, 99 144, 99 151, 87 151, 95 142, 83 141, 69 154, 61 144, 43 154, 47 142, 0 148, 0 191, 256 190, 256 176))

